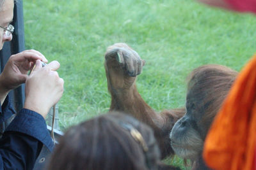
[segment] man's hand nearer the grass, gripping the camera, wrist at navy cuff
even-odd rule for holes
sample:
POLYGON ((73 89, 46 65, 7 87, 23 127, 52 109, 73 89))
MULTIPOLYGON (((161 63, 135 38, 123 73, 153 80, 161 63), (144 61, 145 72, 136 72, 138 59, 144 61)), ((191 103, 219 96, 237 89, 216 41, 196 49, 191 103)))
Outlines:
POLYGON ((59 67, 58 61, 42 67, 42 62, 36 60, 36 66, 26 80, 24 108, 36 111, 44 118, 47 116, 63 94, 64 81, 56 71, 59 67))

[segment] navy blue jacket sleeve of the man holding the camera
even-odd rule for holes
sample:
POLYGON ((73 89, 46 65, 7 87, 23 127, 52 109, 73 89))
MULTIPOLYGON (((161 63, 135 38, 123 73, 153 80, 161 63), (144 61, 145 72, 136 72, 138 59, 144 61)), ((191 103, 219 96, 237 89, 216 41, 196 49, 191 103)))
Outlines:
MULTIPOLYGON (((1 116, 12 115, 10 101, 3 106, 1 116)), ((35 111, 20 110, 0 139, 0 169, 33 169, 43 145, 50 151, 54 147, 44 118, 35 111)))

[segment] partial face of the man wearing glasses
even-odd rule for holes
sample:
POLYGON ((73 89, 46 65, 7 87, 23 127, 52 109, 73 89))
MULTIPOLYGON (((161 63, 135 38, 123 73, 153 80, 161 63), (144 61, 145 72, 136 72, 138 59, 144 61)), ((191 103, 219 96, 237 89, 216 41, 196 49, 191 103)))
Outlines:
POLYGON ((12 34, 5 34, 5 32, 8 32, 6 29, 12 22, 13 6, 13 0, 0 0, 0 50, 2 50, 4 42, 12 40, 12 34))

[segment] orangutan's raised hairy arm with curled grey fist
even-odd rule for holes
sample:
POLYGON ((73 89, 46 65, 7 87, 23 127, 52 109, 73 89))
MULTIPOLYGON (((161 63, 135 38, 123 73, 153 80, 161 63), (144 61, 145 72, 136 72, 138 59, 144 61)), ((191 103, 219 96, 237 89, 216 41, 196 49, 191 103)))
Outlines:
POLYGON ((152 127, 159 143, 161 157, 173 155, 170 132, 185 110, 156 113, 145 103, 136 88, 136 76, 141 73, 145 61, 125 43, 108 47, 104 65, 111 94, 110 111, 124 111, 152 127))

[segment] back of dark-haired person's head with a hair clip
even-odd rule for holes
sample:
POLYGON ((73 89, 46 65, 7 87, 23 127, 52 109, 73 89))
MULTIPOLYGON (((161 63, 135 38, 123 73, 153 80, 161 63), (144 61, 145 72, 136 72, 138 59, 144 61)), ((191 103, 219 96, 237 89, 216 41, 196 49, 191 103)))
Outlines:
POLYGON ((124 113, 107 113, 68 129, 47 169, 153 170, 159 158, 150 127, 124 113), (131 129, 141 134, 146 148, 132 137, 131 129))

